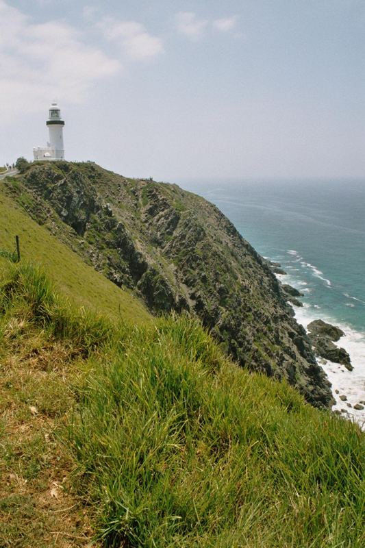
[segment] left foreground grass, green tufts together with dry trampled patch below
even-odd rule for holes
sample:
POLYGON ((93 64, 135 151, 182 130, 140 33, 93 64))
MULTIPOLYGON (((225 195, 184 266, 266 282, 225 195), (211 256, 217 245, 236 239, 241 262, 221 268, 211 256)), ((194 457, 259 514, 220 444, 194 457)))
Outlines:
POLYGON ((37 267, 0 270, 0 546, 86 547, 92 511, 71 485, 75 464, 60 435, 81 366, 113 326, 72 310, 37 267))

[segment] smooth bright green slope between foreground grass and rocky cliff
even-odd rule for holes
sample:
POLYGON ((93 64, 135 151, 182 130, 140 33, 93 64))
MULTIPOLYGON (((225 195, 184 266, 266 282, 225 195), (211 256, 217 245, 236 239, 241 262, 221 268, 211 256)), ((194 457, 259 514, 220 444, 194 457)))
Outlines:
POLYGON ((128 290, 117 288, 47 229, 32 221, 10 197, 3 194, 0 183, 0 250, 14 251, 15 234, 20 237, 22 258, 42 264, 62 294, 77 306, 86 306, 114 319, 134 323, 151 319, 142 301, 128 290))

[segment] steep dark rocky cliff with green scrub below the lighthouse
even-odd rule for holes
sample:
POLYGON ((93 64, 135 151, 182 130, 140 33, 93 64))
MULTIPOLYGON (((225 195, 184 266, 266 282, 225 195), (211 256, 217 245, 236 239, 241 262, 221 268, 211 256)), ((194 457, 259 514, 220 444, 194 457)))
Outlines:
POLYGON ((329 383, 287 295, 211 203, 89 162, 34 164, 7 185, 38 222, 153 312, 196 314, 242 366, 329 406, 329 383))

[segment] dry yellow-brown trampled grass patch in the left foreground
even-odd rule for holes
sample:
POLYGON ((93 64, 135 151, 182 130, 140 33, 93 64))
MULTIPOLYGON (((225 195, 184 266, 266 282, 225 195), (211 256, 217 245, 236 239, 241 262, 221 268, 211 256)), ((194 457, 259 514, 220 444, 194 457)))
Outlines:
POLYGON ((59 436, 77 384, 71 345, 25 319, 3 327, 0 355, 0 546, 86 547, 90 508, 71 486, 73 462, 59 436))

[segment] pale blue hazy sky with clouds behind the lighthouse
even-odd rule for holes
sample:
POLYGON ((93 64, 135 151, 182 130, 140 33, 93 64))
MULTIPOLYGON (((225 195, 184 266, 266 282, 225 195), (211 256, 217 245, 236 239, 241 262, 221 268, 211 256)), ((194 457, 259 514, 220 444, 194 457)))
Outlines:
POLYGON ((365 177, 365 0, 0 0, 0 165, 158 181, 365 177))

